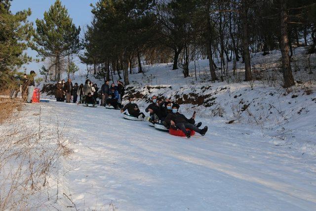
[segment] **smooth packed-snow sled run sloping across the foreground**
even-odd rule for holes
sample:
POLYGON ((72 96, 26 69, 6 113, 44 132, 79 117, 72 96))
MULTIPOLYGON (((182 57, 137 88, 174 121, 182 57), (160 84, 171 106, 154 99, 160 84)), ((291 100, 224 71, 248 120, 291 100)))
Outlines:
POLYGON ((280 140, 264 136, 261 127, 197 118, 209 131, 186 139, 102 107, 51 101, 25 109, 29 115, 41 109, 46 127, 65 128, 74 151, 60 164, 57 202, 44 209, 316 208, 315 158, 279 146, 280 140))

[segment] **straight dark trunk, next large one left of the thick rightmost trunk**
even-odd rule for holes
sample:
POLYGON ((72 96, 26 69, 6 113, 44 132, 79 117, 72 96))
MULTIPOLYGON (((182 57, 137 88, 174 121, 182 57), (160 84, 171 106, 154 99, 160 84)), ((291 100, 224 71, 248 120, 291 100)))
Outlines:
POLYGON ((249 53, 249 41, 248 41, 248 6, 247 0, 241 0, 242 5, 242 42, 243 42, 243 57, 245 62, 245 81, 251 81, 251 67, 250 67, 250 53, 249 53))

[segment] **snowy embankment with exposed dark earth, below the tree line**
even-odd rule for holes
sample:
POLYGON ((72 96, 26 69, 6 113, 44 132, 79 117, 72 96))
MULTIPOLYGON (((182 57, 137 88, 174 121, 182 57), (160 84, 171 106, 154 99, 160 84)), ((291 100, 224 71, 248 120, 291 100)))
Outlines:
POLYGON ((181 104, 201 118, 260 128, 263 136, 278 137, 276 146, 298 149, 316 156, 316 85, 297 84, 290 89, 261 82, 238 84, 148 85, 126 88, 146 107, 153 95, 181 104))

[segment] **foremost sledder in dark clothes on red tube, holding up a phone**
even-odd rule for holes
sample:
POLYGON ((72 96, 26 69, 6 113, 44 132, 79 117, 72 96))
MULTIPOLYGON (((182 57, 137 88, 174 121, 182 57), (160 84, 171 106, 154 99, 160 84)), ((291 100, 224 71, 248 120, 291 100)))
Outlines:
POLYGON ((176 103, 172 105, 172 112, 167 115, 164 123, 172 129, 181 129, 182 132, 187 136, 187 138, 191 137, 190 130, 194 130, 201 135, 205 135, 207 131, 207 126, 205 126, 203 129, 199 129, 197 126, 194 125, 196 113, 193 114, 191 119, 188 119, 183 114, 180 114, 178 112, 179 107, 180 106, 176 103), (190 130, 187 131, 186 128, 190 130))

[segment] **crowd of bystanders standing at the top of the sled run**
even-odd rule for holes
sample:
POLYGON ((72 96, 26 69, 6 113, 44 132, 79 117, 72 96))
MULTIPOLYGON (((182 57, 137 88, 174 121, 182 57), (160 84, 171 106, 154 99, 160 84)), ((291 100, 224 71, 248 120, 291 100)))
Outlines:
POLYGON ((112 83, 110 86, 109 84, 109 81, 102 84, 99 95, 99 87, 89 79, 80 85, 78 83, 73 85, 71 79, 68 79, 67 82, 61 80, 55 85, 56 101, 64 102, 66 100, 66 103, 70 103, 72 100, 73 103, 76 103, 79 97, 78 104, 84 103, 95 106, 99 104, 97 98, 100 98, 101 106, 109 105, 114 108, 121 108, 121 100, 125 91, 124 86, 121 81, 118 81, 117 85, 112 83))

